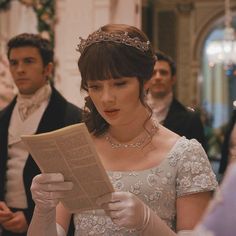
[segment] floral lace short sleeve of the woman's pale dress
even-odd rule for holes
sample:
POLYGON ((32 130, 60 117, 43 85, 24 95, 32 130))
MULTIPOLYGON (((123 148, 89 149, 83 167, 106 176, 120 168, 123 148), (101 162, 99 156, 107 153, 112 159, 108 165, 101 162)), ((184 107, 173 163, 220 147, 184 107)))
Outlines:
POLYGON ((180 148, 182 150, 178 160, 177 197, 214 190, 218 183, 201 144, 195 139, 186 139, 186 143, 180 148))

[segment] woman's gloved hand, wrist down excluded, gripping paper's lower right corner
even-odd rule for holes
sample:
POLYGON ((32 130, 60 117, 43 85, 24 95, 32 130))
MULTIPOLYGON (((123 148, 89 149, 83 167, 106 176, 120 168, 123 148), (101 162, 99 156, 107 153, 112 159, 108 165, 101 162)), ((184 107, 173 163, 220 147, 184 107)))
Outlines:
POLYGON ((132 193, 109 193, 99 197, 97 204, 118 226, 139 230, 146 224, 148 207, 132 193))

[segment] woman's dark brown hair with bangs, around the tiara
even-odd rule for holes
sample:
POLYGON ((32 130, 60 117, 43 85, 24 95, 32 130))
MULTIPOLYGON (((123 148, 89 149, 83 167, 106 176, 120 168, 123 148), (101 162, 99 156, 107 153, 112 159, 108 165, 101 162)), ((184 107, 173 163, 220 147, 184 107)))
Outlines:
MULTIPOLYGON (((147 42, 147 36, 134 26, 123 24, 108 24, 101 27, 108 33, 124 34, 137 37, 142 42, 147 42)), ((146 51, 126 45, 122 42, 100 41, 94 42, 85 48, 78 60, 81 73, 81 90, 88 91, 87 82, 91 80, 119 79, 121 77, 137 77, 140 84, 140 101, 144 106, 144 83, 153 73, 155 56, 151 45, 146 51)), ((85 123, 94 135, 101 135, 109 124, 101 117, 91 98, 85 98, 85 123)))

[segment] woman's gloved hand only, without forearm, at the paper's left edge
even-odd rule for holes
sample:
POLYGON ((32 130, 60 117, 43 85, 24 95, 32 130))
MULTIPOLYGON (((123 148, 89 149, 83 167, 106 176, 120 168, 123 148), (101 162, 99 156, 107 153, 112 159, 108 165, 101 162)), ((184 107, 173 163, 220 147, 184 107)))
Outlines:
POLYGON ((36 175, 32 181, 31 193, 37 210, 42 213, 51 211, 72 188, 73 183, 65 182, 60 173, 36 175))

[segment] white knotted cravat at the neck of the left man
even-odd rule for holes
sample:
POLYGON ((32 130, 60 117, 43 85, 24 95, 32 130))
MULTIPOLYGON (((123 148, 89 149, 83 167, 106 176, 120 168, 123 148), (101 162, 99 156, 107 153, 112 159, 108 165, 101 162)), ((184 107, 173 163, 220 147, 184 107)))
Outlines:
POLYGON ((34 113, 42 104, 43 101, 49 99, 51 94, 51 87, 46 84, 40 88, 34 95, 17 96, 17 103, 21 120, 26 120, 32 113, 34 113))

